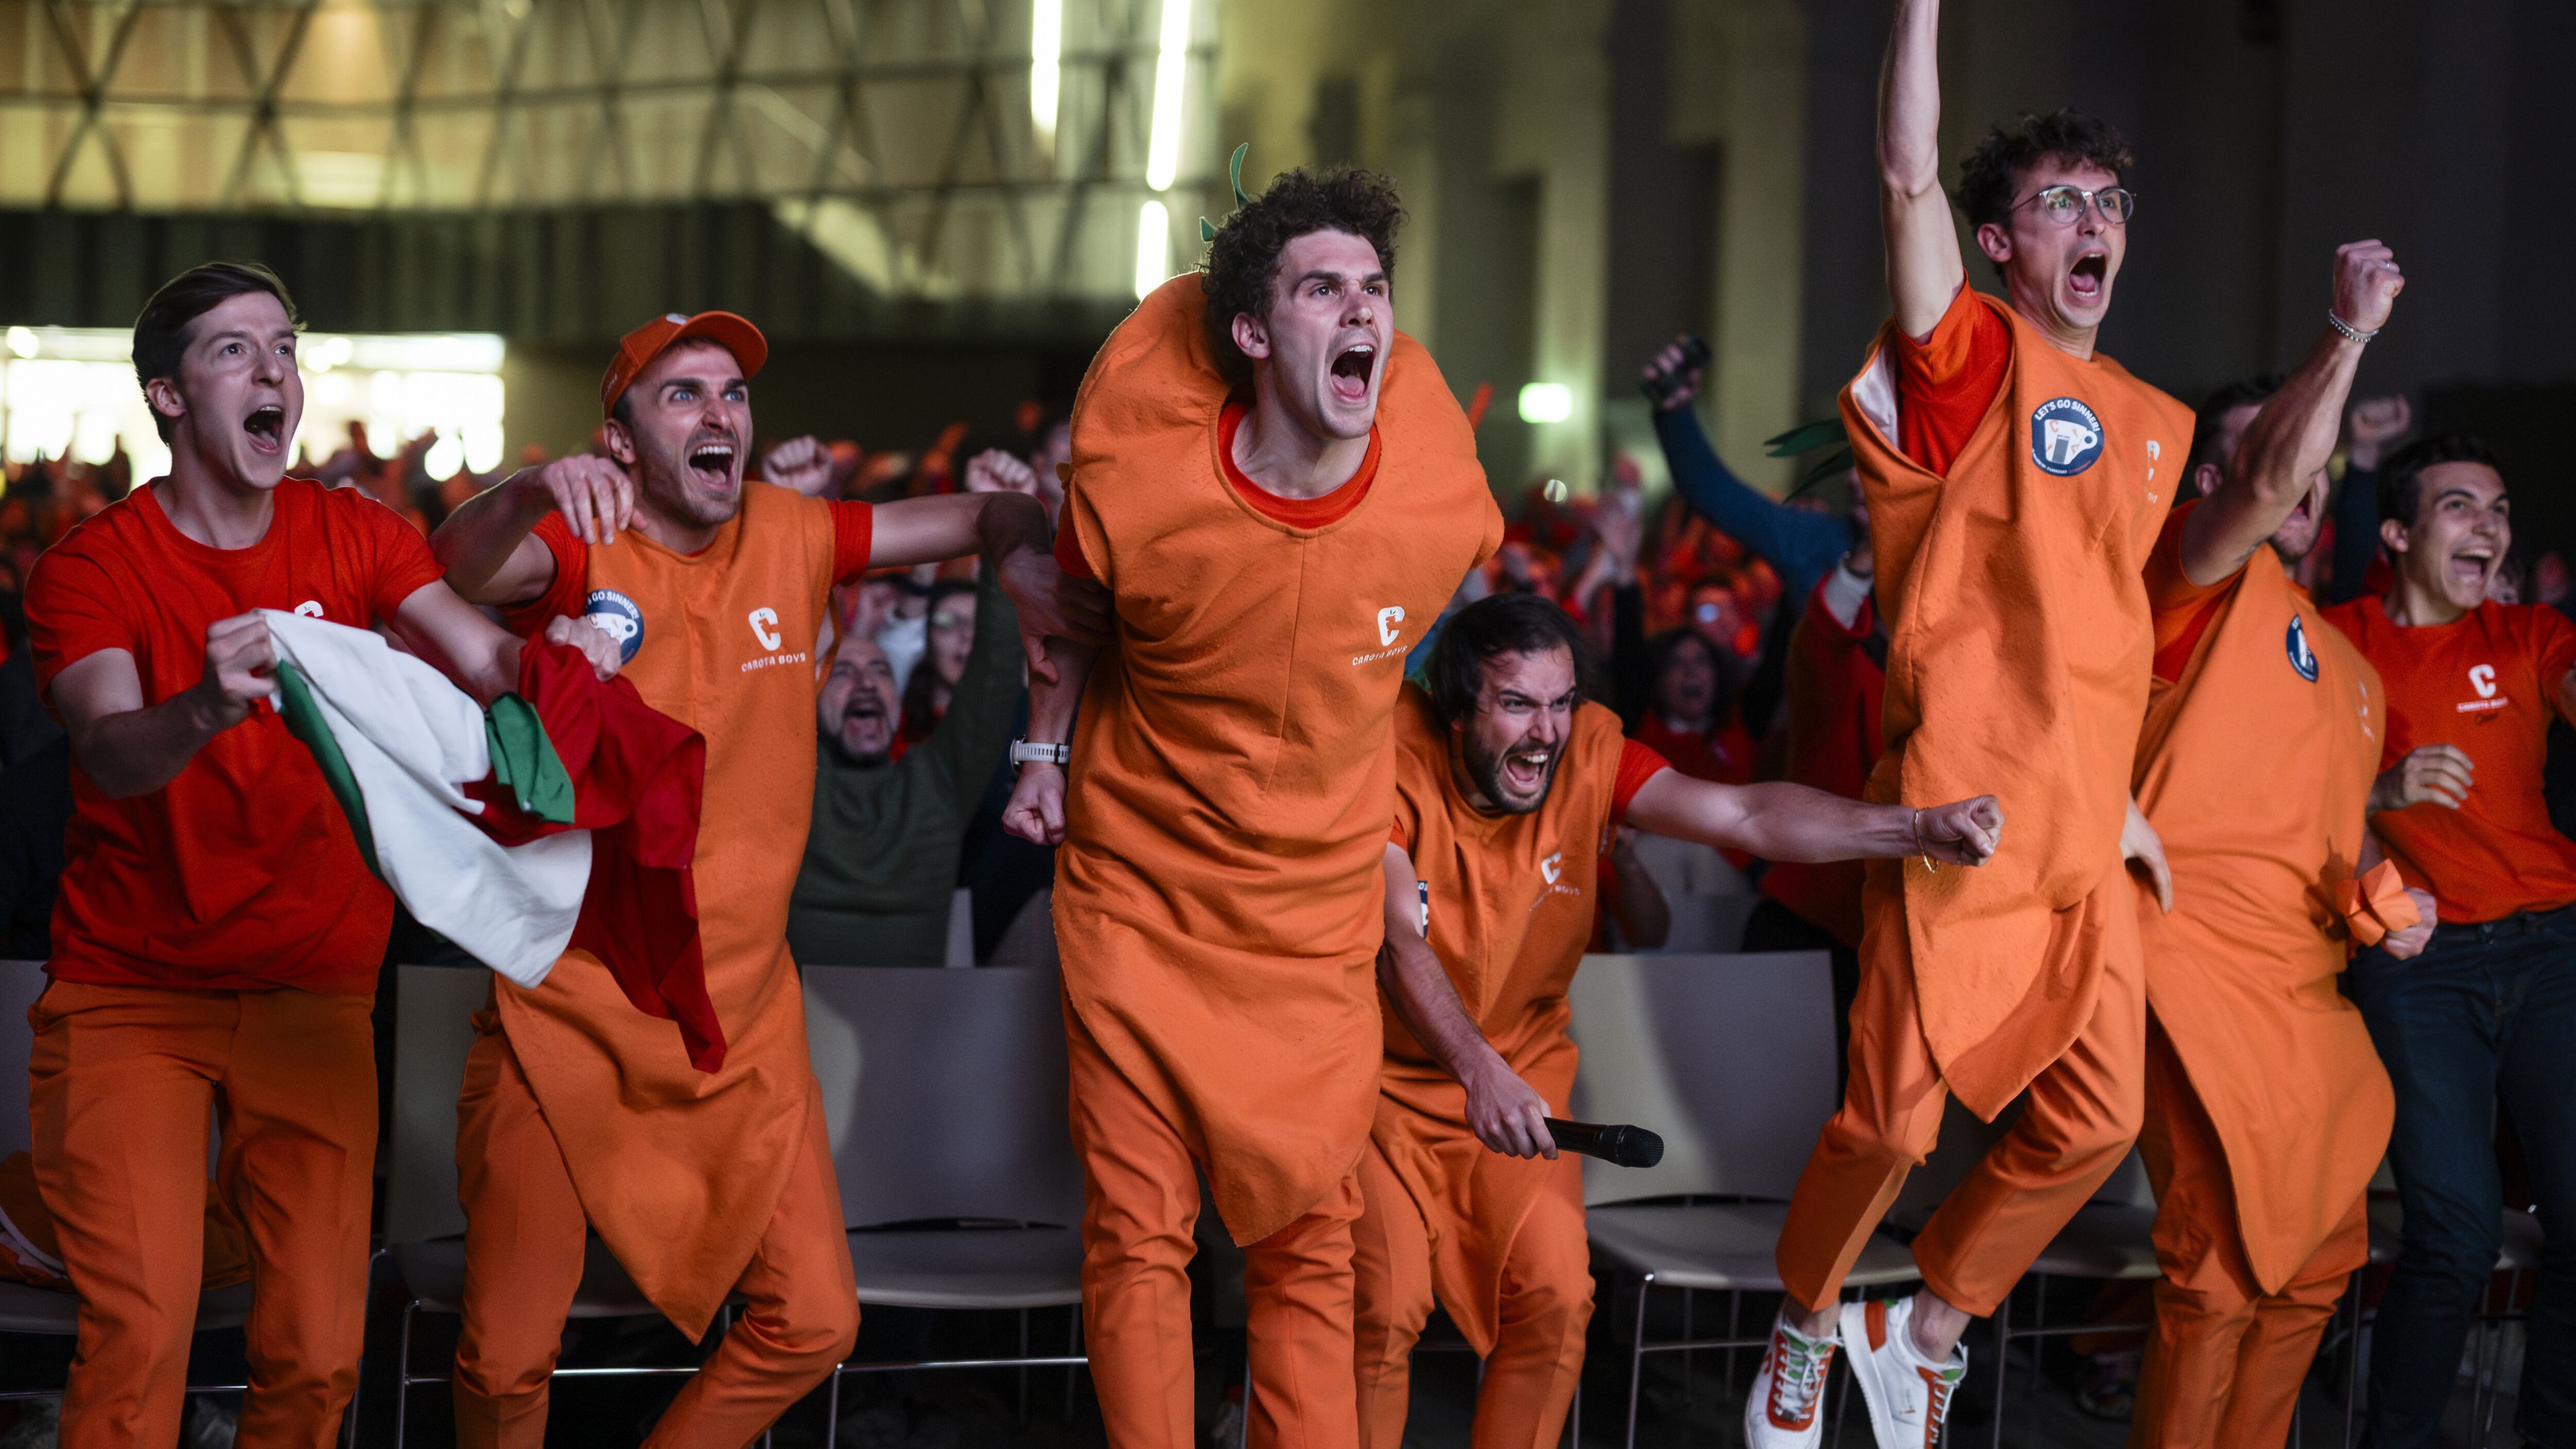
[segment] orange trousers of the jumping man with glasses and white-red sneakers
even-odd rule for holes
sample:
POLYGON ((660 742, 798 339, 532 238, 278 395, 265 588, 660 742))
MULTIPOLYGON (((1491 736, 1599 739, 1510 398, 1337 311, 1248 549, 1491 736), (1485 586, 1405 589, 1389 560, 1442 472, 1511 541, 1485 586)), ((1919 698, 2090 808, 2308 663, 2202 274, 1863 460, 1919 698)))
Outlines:
MULTIPOLYGON (((1950 1089, 1932 1063, 1914 999, 1904 901, 1870 891, 1852 1001, 1852 1078, 1824 1125, 1788 1228, 1780 1282, 1808 1305, 1842 1292, 1842 1277, 1940 1140, 1950 1089)), ((2102 993, 2076 1040, 2030 1081, 2022 1117, 1986 1150, 1932 1223, 1914 1238, 1924 1287, 1978 1318, 1996 1310, 2030 1261, 2099 1189, 2146 1117, 2146 973, 2138 960, 2136 893, 2110 875, 2063 929, 2102 942, 2102 993)))

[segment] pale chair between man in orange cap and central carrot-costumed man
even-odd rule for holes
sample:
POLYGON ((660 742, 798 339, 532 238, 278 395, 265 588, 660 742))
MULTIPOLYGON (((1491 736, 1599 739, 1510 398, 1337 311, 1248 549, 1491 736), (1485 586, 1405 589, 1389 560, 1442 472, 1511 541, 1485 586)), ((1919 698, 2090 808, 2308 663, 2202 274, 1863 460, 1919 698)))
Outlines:
POLYGON ((1020 1351, 848 1361, 899 1369, 1072 1369, 1082 1354, 1082 1166, 1066 1122, 1064 988, 1054 970, 809 965, 806 1042, 832 1127, 863 1307, 1015 1310, 1020 1351), (1074 1307, 1064 1354, 1028 1351, 1033 1307, 1074 1307))

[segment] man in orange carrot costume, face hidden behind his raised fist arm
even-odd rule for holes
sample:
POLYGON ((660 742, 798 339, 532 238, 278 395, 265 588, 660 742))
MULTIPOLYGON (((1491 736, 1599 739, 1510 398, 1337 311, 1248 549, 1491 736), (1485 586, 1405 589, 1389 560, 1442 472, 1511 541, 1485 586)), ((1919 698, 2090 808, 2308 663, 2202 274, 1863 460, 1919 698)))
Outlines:
POLYGON ((2146 564, 2156 682, 2136 795, 2172 880, 2164 901, 2138 893, 2138 1145, 2164 1269, 2138 1449, 2287 1439, 2316 1341, 2370 1259, 2362 1207, 2393 1099, 2336 978, 2352 939, 2419 952, 2434 909, 2362 829, 2388 734, 2380 674, 2285 564, 2316 546, 2344 394, 2401 286, 2378 242, 2336 255, 2308 363, 2269 399, 2213 399, 2202 497, 2146 564))

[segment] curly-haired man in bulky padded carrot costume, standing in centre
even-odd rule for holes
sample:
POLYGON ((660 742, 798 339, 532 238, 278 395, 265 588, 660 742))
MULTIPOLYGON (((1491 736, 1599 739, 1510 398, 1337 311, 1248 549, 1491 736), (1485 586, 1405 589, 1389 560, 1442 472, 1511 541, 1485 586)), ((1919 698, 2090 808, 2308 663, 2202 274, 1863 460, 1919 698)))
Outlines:
POLYGON ((1399 216, 1376 175, 1278 178, 1074 399, 1056 548, 1118 631, 1048 646, 1030 739, 1064 741, 1087 682, 1082 728, 1015 749, 1005 821, 1064 844, 1082 1313, 1121 1449, 1190 1444, 1200 1171, 1247 1256, 1252 1441, 1358 1436, 1388 728, 1404 654, 1502 543, 1466 414, 1394 327, 1399 216))

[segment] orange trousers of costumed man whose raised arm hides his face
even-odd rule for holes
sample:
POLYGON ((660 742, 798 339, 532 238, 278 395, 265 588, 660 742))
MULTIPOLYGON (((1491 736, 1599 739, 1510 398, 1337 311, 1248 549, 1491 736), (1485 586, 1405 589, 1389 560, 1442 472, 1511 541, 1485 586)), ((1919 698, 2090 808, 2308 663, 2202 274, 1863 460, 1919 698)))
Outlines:
POLYGON ((2226 1148, 2156 1032, 2146 1055, 2138 1156, 2156 1184, 2156 1331, 2138 1369, 2130 1449, 2272 1449, 2290 1439, 2298 1387, 2344 1282, 2370 1261, 2367 1192, 2282 1284, 2246 1264, 2226 1148))

